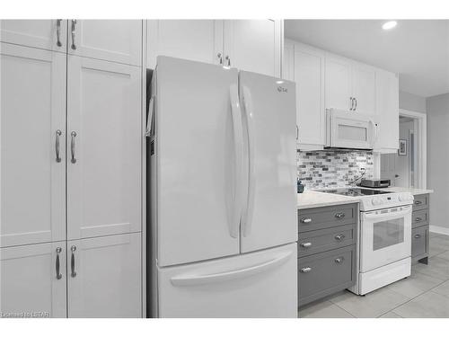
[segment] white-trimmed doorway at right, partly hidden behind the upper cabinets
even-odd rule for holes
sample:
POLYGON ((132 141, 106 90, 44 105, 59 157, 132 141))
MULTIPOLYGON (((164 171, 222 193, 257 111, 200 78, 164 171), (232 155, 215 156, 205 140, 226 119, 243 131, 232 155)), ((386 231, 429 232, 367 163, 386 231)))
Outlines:
POLYGON ((425 189, 426 114, 400 110, 399 150, 381 155, 381 177, 392 186, 425 189))

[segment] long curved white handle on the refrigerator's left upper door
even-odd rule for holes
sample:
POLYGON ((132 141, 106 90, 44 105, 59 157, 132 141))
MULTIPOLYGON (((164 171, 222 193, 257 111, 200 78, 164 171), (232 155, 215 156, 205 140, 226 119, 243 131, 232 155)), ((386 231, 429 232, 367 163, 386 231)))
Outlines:
POLYGON ((242 217, 242 178, 243 178, 243 127, 242 110, 240 108, 238 86, 232 84, 229 87, 231 100, 231 113, 233 118, 233 146, 235 154, 235 185, 233 195, 233 217, 229 222, 229 234, 232 237, 239 236, 239 226, 242 217))

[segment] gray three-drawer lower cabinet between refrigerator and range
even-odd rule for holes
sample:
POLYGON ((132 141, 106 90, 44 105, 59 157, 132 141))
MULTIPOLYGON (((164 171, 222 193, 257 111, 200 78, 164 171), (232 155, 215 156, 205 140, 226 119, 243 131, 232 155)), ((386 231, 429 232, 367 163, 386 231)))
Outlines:
POLYGON ((298 210, 299 306, 356 282, 358 204, 298 210))

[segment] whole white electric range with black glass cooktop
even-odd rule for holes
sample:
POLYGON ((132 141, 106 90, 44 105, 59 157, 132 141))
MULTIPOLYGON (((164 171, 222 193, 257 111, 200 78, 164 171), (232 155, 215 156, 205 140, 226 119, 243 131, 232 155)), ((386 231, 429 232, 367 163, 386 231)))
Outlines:
POLYGON ((348 187, 321 190, 359 200, 357 282, 349 288, 365 295, 411 271, 411 205, 409 192, 348 187))

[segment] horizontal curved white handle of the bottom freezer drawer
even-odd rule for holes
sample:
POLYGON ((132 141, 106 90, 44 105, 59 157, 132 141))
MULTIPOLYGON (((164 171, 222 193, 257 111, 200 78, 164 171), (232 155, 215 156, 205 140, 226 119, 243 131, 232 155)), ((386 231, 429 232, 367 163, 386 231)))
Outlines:
POLYGON ((258 265, 243 268, 240 270, 229 270, 216 274, 206 275, 184 274, 172 277, 171 282, 175 287, 187 287, 207 283, 224 282, 231 279, 242 279, 275 268, 278 265, 286 262, 291 256, 292 252, 283 253, 277 256, 277 258, 269 260, 268 262, 263 262, 258 265))

